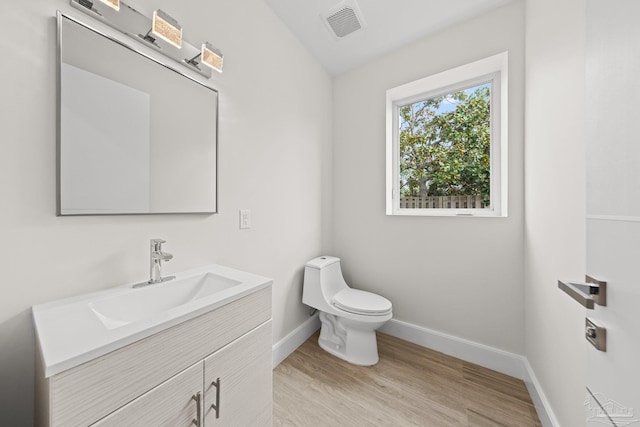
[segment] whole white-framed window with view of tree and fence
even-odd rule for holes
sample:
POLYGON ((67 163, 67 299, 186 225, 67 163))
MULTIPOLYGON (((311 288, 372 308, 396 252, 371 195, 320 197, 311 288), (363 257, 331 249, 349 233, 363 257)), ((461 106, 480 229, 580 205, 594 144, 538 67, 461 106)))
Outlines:
POLYGON ((387 215, 507 216, 507 61, 387 91, 387 215))

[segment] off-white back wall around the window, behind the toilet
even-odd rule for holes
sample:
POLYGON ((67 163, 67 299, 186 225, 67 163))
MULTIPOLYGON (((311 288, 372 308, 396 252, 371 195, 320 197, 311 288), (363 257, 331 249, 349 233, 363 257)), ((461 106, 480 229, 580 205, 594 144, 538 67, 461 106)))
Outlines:
POLYGON ((524 352, 524 6, 514 2, 334 80, 334 252, 394 318, 524 352), (509 51, 509 217, 385 215, 385 91, 509 51))

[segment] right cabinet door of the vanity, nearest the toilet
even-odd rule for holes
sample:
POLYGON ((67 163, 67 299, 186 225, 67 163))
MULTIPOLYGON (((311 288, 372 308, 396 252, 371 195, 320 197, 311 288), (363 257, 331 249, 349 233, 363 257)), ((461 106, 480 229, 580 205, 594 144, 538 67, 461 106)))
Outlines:
POLYGON ((271 321, 204 361, 205 426, 270 426, 271 321))

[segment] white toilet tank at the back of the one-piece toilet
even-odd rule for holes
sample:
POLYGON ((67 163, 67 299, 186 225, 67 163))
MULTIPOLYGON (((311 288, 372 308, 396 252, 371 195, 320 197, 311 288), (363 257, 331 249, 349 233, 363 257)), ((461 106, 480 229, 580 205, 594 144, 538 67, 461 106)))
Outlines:
POLYGON ((323 310, 331 298, 348 288, 342 277, 340 258, 321 256, 305 264, 302 302, 310 307, 323 310))

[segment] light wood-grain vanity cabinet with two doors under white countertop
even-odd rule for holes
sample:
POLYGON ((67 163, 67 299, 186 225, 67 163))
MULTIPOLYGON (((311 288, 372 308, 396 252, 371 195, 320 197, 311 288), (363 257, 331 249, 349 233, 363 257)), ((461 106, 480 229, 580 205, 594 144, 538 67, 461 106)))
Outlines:
POLYGON ((36 384, 36 426, 270 426, 271 287, 36 384))

